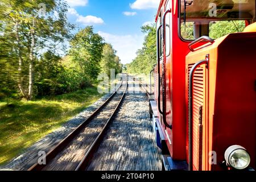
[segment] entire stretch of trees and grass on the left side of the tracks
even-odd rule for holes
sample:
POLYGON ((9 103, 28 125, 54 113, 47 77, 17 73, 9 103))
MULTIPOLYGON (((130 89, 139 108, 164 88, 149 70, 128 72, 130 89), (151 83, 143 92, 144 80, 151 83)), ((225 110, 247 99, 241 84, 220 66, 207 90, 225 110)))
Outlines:
POLYGON ((40 1, 1 0, 0 165, 100 98, 100 73, 122 72, 93 26, 68 22, 67 2, 46 2, 39 15, 40 1))

